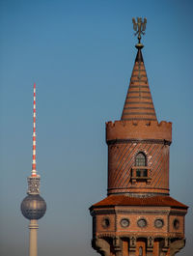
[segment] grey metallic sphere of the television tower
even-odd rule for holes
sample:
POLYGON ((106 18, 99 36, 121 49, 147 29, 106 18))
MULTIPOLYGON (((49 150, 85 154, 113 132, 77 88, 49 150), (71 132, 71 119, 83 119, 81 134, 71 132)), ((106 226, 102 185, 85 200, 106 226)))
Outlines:
POLYGON ((45 211, 45 201, 39 194, 30 194, 21 203, 21 213, 28 219, 40 219, 45 211))

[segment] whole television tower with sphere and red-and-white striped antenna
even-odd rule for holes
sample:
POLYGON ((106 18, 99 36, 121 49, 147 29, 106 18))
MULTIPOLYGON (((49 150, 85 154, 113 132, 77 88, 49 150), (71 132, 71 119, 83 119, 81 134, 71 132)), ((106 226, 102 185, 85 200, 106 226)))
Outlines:
POLYGON ((45 211, 46 204, 43 198, 40 196, 40 180, 41 176, 37 174, 36 169, 36 83, 34 83, 34 109, 33 109, 33 161, 32 161, 32 173, 27 178, 28 190, 27 196, 21 203, 21 213, 30 220, 30 244, 29 244, 29 256, 38 255, 37 246, 37 230, 39 228, 38 219, 40 219, 45 211))

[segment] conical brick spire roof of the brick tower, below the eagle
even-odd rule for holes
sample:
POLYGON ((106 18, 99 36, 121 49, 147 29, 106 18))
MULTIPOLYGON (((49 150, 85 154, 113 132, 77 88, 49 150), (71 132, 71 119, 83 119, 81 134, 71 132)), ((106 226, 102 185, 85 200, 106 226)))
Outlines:
POLYGON ((137 44, 136 47, 138 49, 137 56, 131 74, 121 119, 129 121, 157 121, 141 51, 143 45, 137 44))

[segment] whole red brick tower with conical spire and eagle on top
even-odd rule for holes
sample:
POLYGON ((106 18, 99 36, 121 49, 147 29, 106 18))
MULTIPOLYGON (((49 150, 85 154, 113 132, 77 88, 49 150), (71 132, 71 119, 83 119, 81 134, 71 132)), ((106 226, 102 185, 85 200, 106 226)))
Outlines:
POLYGON ((107 197, 90 208, 92 246, 104 256, 173 256, 187 207, 169 194, 172 123, 158 123, 142 56, 146 18, 133 18, 137 55, 122 118, 106 123, 107 197))

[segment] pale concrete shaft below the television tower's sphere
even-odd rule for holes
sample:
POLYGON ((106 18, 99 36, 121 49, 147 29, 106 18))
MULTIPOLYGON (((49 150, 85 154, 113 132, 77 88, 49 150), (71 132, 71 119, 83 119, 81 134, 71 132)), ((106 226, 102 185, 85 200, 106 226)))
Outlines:
POLYGON ((38 256, 38 246, 37 246, 38 229, 39 229, 39 224, 37 219, 31 219, 29 224, 29 230, 30 230, 29 256, 38 256))

